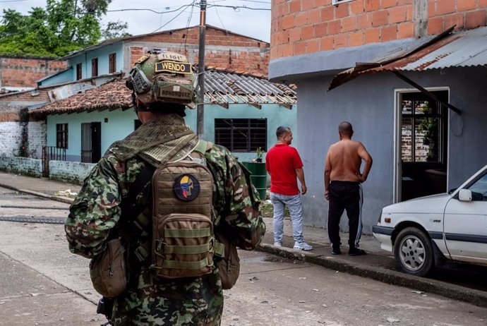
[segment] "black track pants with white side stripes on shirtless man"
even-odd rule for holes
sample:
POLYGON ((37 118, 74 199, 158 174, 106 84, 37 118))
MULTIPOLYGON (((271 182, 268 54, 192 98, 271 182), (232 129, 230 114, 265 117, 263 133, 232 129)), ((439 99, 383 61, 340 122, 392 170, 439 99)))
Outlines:
POLYGON ((333 247, 342 243, 339 236, 339 223, 343 211, 349 218, 349 247, 359 248, 362 233, 362 186, 358 182, 332 181, 328 191, 328 237, 333 247))

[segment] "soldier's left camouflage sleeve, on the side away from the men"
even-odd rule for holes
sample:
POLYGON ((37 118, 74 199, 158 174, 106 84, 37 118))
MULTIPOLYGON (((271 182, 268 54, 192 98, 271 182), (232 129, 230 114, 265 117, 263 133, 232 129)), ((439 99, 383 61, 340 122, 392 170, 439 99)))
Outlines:
POLYGON ((86 258, 102 253, 109 231, 120 218, 121 193, 112 163, 103 157, 92 169, 64 225, 69 250, 86 258))

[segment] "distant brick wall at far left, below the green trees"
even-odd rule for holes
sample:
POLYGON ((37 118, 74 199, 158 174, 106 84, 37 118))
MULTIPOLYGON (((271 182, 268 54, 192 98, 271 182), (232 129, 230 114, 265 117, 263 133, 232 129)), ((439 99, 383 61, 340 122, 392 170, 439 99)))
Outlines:
POLYGON ((36 87, 36 80, 66 69, 66 61, 0 56, 0 87, 36 87))

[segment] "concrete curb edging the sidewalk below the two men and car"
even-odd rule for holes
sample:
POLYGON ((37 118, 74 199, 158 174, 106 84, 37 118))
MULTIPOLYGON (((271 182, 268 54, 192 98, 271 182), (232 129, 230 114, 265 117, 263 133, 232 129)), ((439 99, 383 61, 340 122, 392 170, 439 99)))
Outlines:
POLYGON ((438 294, 446 298, 464 301, 479 307, 487 308, 487 293, 475 289, 469 289, 455 284, 449 284, 435 279, 426 279, 414 275, 404 274, 395 270, 387 270, 381 267, 373 267, 359 262, 348 262, 339 258, 331 258, 326 255, 315 255, 313 253, 296 252, 291 248, 277 248, 267 243, 261 243, 257 250, 282 258, 301 260, 312 265, 319 265, 331 270, 354 274, 386 284, 404 286, 417 291, 438 294))

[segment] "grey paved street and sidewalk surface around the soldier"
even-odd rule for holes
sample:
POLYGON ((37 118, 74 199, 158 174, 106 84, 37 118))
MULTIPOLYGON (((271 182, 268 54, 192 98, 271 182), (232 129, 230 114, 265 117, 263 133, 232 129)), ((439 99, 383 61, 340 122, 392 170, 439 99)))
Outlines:
MULTIPOLYGON (((39 179, 27 177, 19 183, 19 177, 11 176, 17 189, 37 189, 0 188, 0 325, 100 325, 104 318, 95 314, 99 296, 90 283, 88 260, 69 253, 64 238, 61 223, 70 200, 49 199, 54 189, 69 185, 45 179, 34 185, 39 179)), ((0 178, 0 184, 5 180, 0 178)), ((260 250, 275 255, 241 252, 241 277, 234 289, 225 291, 222 325, 487 325, 487 310, 481 308, 485 302, 480 307, 462 302, 484 298, 479 289, 486 286, 485 269, 440 270, 435 277, 447 282, 407 278, 370 236, 363 237, 369 255, 332 257, 323 229, 306 227, 315 250, 302 253, 270 246, 272 219, 266 223, 260 250), (452 284, 459 279, 467 279, 462 284, 472 289, 452 284), (450 294, 435 295, 438 289, 450 294), (447 298, 458 296, 464 296, 462 301, 447 298)), ((284 246, 289 247, 289 225, 285 232, 284 246)))

